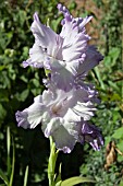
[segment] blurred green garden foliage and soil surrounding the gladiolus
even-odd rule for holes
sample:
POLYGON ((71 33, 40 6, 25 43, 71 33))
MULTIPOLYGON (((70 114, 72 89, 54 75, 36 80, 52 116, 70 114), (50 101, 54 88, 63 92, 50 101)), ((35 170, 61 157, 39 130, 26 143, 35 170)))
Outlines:
POLYGON ((48 185, 49 140, 40 126, 34 130, 17 128, 15 112, 29 106, 34 96, 44 91, 44 70, 22 67, 34 43, 29 30, 33 14, 37 11, 41 23, 49 20, 59 33, 62 15, 58 13, 58 2, 74 16, 94 16, 87 25, 90 43, 104 56, 87 77, 101 100, 91 121, 101 129, 104 146, 99 152, 88 144, 76 144, 71 154, 60 152, 62 178, 83 175, 95 178, 96 186, 122 186, 123 1, 119 0, 0 1, 0 186, 5 185, 3 179, 10 181, 9 186, 48 185))

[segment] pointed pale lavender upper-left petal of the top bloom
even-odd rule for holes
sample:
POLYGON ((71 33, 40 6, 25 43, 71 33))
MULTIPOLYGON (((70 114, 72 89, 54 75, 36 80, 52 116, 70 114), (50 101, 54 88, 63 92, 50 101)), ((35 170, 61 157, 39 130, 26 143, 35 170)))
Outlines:
POLYGON ((57 57, 58 59, 62 58, 62 38, 50 27, 42 25, 37 13, 34 14, 34 22, 30 30, 36 43, 38 43, 38 46, 40 46, 48 56, 57 57))

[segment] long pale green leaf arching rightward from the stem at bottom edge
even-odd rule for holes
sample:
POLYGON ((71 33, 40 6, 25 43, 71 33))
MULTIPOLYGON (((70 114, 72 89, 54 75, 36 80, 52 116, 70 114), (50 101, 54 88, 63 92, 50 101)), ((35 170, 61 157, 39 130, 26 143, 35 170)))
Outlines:
POLYGON ((65 181, 63 181, 61 183, 61 186, 74 186, 76 184, 81 184, 81 183, 96 183, 96 181, 93 181, 88 177, 79 177, 79 176, 75 176, 75 177, 71 177, 71 178, 67 178, 65 181))

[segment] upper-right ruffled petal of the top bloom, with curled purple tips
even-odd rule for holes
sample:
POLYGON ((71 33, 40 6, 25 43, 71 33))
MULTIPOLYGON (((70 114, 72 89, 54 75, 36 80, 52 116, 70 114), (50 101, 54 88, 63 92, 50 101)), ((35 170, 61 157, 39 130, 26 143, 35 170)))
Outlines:
POLYGON ((63 60, 76 60, 85 53, 87 42, 90 38, 85 34, 84 26, 91 18, 74 19, 62 4, 58 4, 58 9, 64 15, 62 20, 62 31, 60 33, 60 36, 63 38, 63 60))

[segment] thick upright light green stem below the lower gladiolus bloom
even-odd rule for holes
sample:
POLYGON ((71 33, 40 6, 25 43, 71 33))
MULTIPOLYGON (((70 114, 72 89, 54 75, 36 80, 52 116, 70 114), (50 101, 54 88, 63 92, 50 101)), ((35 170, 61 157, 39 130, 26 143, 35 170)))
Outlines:
POLYGON ((50 156, 48 162, 48 179, 49 179, 49 186, 54 185, 54 178, 56 178, 56 162, 58 158, 59 151, 56 151, 56 144, 52 140, 52 137, 50 139, 50 156))

